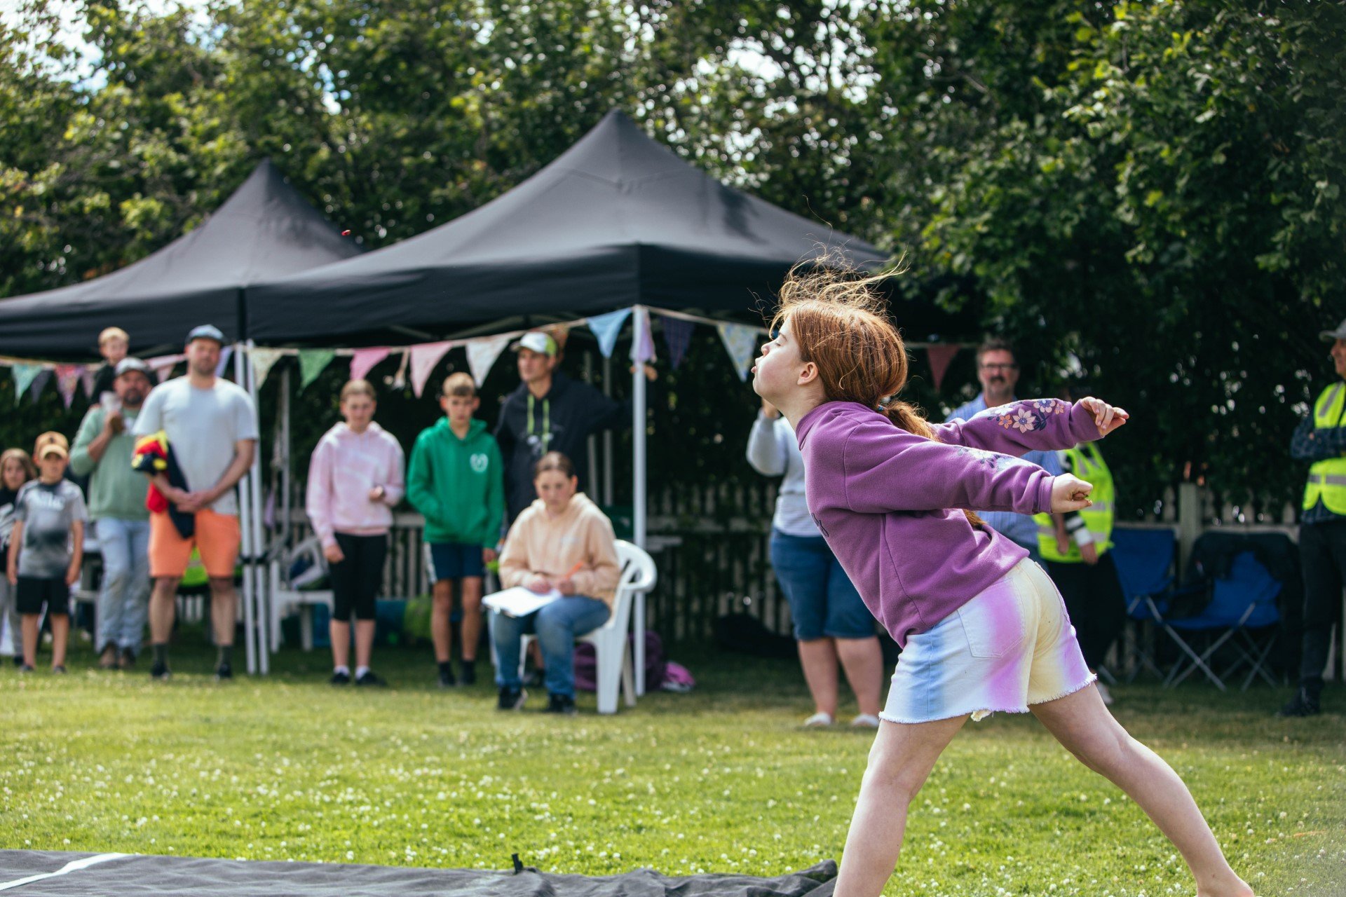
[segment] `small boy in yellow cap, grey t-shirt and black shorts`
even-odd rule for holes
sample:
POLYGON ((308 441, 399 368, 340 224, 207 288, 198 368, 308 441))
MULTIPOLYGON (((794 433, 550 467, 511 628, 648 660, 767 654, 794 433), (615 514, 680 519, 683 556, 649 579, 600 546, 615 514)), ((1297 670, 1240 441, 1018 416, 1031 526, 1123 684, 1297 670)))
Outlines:
POLYGON ((38 659, 38 624, 46 605, 51 619, 51 671, 66 671, 70 637, 70 586, 83 562, 87 519, 79 487, 65 479, 70 446, 61 433, 43 433, 32 452, 38 479, 19 490, 9 534, 7 577, 15 586, 23 627, 23 666, 32 672, 38 659))

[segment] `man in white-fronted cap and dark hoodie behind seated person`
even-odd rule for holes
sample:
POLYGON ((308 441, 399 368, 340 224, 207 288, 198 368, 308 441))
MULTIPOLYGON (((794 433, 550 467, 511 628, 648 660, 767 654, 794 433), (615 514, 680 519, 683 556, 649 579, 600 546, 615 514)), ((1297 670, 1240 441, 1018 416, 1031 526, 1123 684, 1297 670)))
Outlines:
MULTIPOLYGON (((537 498, 533 465, 540 457, 560 452, 571 459, 583 490, 590 433, 631 420, 629 402, 616 402, 557 370, 561 350, 551 334, 529 331, 510 348, 518 355, 522 383, 505 397, 495 425, 495 441, 505 460, 506 522, 537 498)), ((654 368, 646 364, 645 375, 653 381, 654 368)))

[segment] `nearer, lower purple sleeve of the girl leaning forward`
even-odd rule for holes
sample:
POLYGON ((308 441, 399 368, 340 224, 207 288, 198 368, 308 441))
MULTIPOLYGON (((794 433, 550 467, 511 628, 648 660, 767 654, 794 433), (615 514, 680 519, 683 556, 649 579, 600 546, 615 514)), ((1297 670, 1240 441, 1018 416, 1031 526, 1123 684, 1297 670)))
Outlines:
POLYGON ((935 442, 883 418, 833 438, 843 467, 839 485, 857 514, 944 508, 1038 514, 1051 507, 1053 476, 1008 455, 935 442))

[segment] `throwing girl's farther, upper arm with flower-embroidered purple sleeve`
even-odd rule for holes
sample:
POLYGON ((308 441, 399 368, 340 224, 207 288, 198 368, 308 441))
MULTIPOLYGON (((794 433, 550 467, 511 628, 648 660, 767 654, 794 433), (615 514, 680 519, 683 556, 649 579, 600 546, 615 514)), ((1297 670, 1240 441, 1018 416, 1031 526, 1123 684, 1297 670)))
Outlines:
POLYGON ((934 433, 937 440, 949 445, 1019 456, 1034 449, 1065 449, 1093 442, 1128 418, 1123 409, 1092 397, 1074 405, 1059 398, 1034 398, 988 407, 970 421, 935 424, 934 433))

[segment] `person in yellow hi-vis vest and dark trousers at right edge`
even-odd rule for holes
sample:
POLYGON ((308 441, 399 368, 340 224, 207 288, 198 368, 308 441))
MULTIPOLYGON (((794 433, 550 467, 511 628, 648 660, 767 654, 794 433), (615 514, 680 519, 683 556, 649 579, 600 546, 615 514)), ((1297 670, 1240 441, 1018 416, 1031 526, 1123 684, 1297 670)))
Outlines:
POLYGON ((1299 690, 1280 709, 1283 717, 1320 711, 1323 667, 1333 621, 1346 584, 1346 320, 1319 332, 1331 343, 1337 379, 1318 395, 1289 442, 1298 461, 1312 461, 1299 518, 1299 559, 1304 576, 1304 619, 1299 690))

